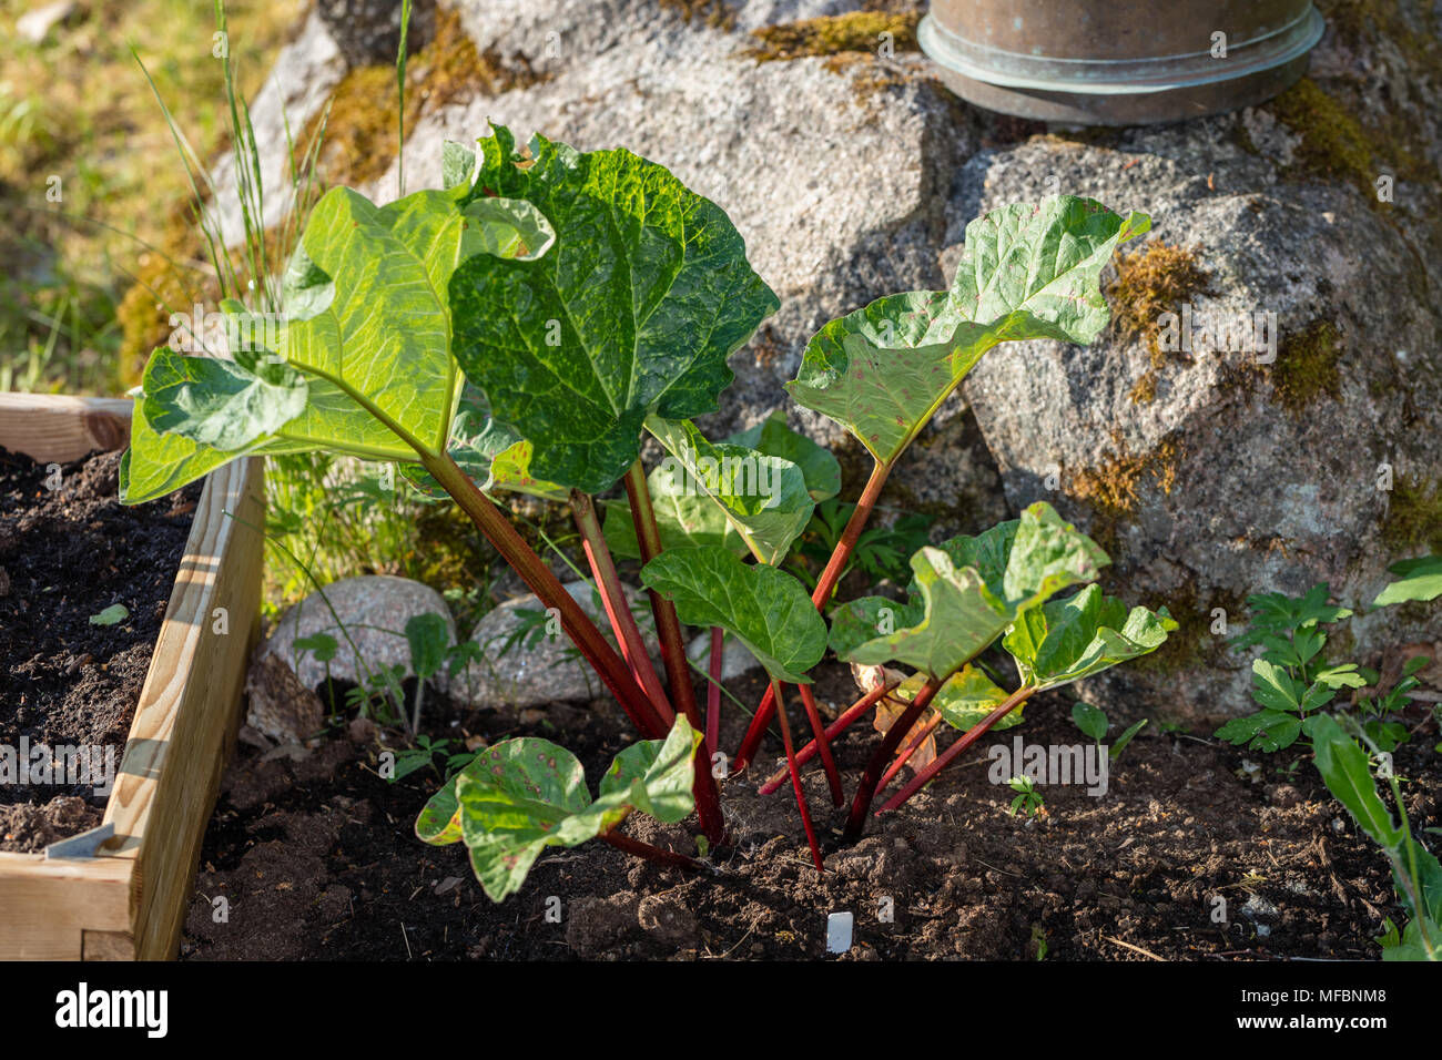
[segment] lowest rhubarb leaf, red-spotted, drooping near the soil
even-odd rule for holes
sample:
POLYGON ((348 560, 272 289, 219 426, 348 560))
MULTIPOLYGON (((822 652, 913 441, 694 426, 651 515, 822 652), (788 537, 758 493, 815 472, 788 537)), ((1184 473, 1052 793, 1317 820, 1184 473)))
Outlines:
POLYGON ((591 799, 580 760, 549 740, 503 740, 476 756, 415 821, 430 844, 464 841, 492 901, 515 893, 547 847, 577 847, 633 812, 675 822, 694 808, 692 760, 701 734, 684 717, 665 740, 627 747, 591 799))

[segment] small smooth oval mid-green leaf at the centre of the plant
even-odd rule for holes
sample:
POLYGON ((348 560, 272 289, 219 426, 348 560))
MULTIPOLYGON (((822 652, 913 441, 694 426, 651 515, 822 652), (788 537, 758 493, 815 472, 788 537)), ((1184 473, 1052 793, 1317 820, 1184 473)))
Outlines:
POLYGON ((774 567, 751 565, 717 547, 662 552, 642 581, 691 626, 721 626, 777 681, 806 684, 826 653, 826 623, 806 588, 774 567))

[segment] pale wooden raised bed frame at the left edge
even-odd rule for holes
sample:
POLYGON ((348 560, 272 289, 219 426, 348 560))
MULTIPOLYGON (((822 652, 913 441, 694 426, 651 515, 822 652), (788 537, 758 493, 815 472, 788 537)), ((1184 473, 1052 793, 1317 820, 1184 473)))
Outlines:
MULTIPOLYGON (((123 449, 128 399, 0 394, 0 446, 42 463, 123 449)), ((200 839, 260 632, 264 461, 209 474, 92 857, 0 851, 0 959, 160 960, 180 942, 200 839), (234 516, 234 518, 232 518, 234 516), (215 632, 216 609, 228 632, 215 632)))

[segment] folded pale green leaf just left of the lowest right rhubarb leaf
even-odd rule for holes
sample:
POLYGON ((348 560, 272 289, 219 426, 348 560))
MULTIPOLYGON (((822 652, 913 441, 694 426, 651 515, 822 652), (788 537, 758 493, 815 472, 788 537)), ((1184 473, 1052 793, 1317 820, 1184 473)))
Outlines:
MULTIPOLYGON (((1092 581, 1107 562, 1094 541, 1061 521, 1051 505, 1037 502, 1012 526, 998 526, 979 538, 955 538, 942 548, 926 547, 911 557, 911 591, 920 597, 921 617, 855 643, 868 619, 884 619, 878 597, 844 609, 842 633, 833 640, 854 645, 848 662, 901 662, 933 676, 947 676, 1001 636, 1028 607, 1067 586, 1092 581)), ((895 607, 895 604, 891 604, 895 607)), ((910 606, 914 614, 916 603, 910 606)))

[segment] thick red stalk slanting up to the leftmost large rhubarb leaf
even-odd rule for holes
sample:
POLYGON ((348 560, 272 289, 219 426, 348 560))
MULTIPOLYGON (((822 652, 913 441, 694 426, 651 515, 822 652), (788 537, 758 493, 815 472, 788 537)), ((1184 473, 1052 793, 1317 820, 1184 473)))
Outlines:
MULTIPOLYGON (((545 565, 545 561, 535 554, 535 549, 516 534, 500 509, 480 492, 448 454, 421 454, 435 482, 451 495, 461 511, 470 516, 486 541, 500 552, 526 587, 539 597, 547 607, 554 607, 561 616, 561 629, 575 643, 585 661, 597 672, 616 701, 620 702, 626 715, 636 725, 637 731, 647 740, 662 740, 671 731, 656 712, 655 704, 646 691, 636 682, 624 661, 616 653, 610 642, 601 636, 590 616, 581 610, 580 604, 571 599, 561 581, 545 565)), ((709 774, 709 772, 708 772, 709 774)))

